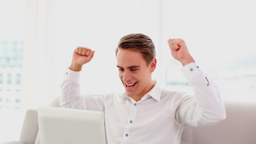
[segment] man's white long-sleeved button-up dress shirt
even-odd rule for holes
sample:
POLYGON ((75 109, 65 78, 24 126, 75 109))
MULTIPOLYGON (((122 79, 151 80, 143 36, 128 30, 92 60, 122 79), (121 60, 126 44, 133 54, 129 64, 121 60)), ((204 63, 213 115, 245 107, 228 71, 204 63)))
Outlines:
POLYGON ((155 86, 141 100, 124 94, 80 95, 79 71, 67 69, 61 86, 62 107, 105 112, 106 134, 115 143, 181 143, 184 125, 202 126, 225 119, 218 88, 195 65, 182 68, 194 96, 155 86))

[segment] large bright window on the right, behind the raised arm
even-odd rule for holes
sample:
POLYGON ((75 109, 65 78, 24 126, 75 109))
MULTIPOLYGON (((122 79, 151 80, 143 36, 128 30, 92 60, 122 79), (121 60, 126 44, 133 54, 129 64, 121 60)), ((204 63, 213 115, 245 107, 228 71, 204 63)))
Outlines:
MULTIPOLYGON (((185 40, 196 64, 217 84, 223 100, 256 101, 256 21, 251 19, 256 10, 252 1, 164 2, 166 39, 185 40), (183 5, 183 10, 175 5, 183 5)), ((181 67, 170 54, 167 88, 193 94, 181 67)))

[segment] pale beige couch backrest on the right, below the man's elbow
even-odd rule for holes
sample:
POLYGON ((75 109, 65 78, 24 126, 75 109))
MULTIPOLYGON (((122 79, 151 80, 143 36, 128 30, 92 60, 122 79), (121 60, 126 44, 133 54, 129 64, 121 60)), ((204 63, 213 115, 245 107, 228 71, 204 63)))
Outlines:
POLYGON ((225 101, 226 119, 210 127, 185 127, 182 144, 256 143, 256 103, 225 101))

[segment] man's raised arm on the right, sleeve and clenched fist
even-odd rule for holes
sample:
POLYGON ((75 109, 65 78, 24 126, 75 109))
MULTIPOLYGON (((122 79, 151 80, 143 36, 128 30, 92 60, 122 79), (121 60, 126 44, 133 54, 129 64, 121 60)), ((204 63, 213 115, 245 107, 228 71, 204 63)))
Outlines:
POLYGON ((183 95, 176 110, 179 124, 202 126, 225 119, 225 106, 220 99, 218 88, 202 73, 190 55, 182 39, 169 39, 172 56, 182 63, 183 74, 194 90, 194 96, 183 95))

